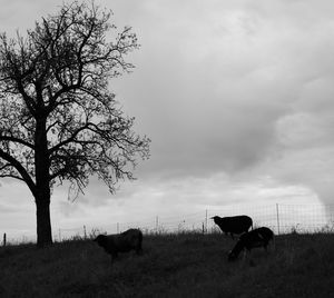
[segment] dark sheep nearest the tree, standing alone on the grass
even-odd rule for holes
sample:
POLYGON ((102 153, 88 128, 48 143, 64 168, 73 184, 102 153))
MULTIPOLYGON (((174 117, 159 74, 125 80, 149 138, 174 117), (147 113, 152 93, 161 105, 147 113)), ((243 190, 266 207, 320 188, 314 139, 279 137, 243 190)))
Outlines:
POLYGON ((117 258, 118 252, 134 249, 139 255, 143 250, 143 232, 139 229, 129 229, 118 235, 99 235, 94 241, 111 256, 111 262, 117 258))

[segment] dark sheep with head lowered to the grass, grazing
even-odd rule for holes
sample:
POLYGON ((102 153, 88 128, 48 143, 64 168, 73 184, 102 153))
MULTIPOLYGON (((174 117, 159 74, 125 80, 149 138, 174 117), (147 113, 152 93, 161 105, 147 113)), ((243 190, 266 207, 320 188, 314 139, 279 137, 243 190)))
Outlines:
POLYGON ((240 236, 235 247, 229 251, 228 260, 235 260, 244 249, 250 251, 252 248, 264 247, 265 250, 267 250, 267 246, 273 239, 274 232, 266 227, 245 232, 240 236))

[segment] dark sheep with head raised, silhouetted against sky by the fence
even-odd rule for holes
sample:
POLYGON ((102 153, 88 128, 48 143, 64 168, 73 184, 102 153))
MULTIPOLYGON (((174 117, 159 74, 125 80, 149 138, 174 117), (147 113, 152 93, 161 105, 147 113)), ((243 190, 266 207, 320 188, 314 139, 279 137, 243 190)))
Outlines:
POLYGON ((234 216, 234 217, 212 217, 215 224, 220 228, 225 235, 230 234, 232 239, 234 239, 234 234, 242 234, 253 229, 253 220, 248 216, 234 216))

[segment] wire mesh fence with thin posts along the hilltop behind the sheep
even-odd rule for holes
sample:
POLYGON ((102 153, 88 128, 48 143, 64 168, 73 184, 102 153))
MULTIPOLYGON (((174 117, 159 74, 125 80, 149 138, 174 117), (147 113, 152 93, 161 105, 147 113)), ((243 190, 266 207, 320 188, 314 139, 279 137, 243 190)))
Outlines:
POLYGON ((253 226, 266 226, 276 235, 288 232, 333 232, 334 205, 239 205, 205 209, 184 216, 154 216, 138 221, 112 222, 107 226, 86 226, 77 228, 58 228, 53 232, 55 241, 72 238, 91 238, 98 234, 119 234, 129 228, 139 228, 144 234, 181 234, 219 231, 214 224, 214 216, 248 215, 253 226))

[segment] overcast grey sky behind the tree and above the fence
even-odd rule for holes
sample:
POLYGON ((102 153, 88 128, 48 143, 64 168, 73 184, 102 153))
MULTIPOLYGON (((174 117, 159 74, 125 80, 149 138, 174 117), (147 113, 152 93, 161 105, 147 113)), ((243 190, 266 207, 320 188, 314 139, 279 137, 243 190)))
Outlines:
MULTIPOLYGON (((0 0, 13 33, 56 0, 0 0)), ((140 49, 132 73, 110 81, 151 158, 111 196, 56 189, 53 228, 102 226, 227 205, 332 203, 334 2, 331 0, 99 0, 140 49)), ((28 188, 1 181, 1 230, 32 234, 28 188)))

